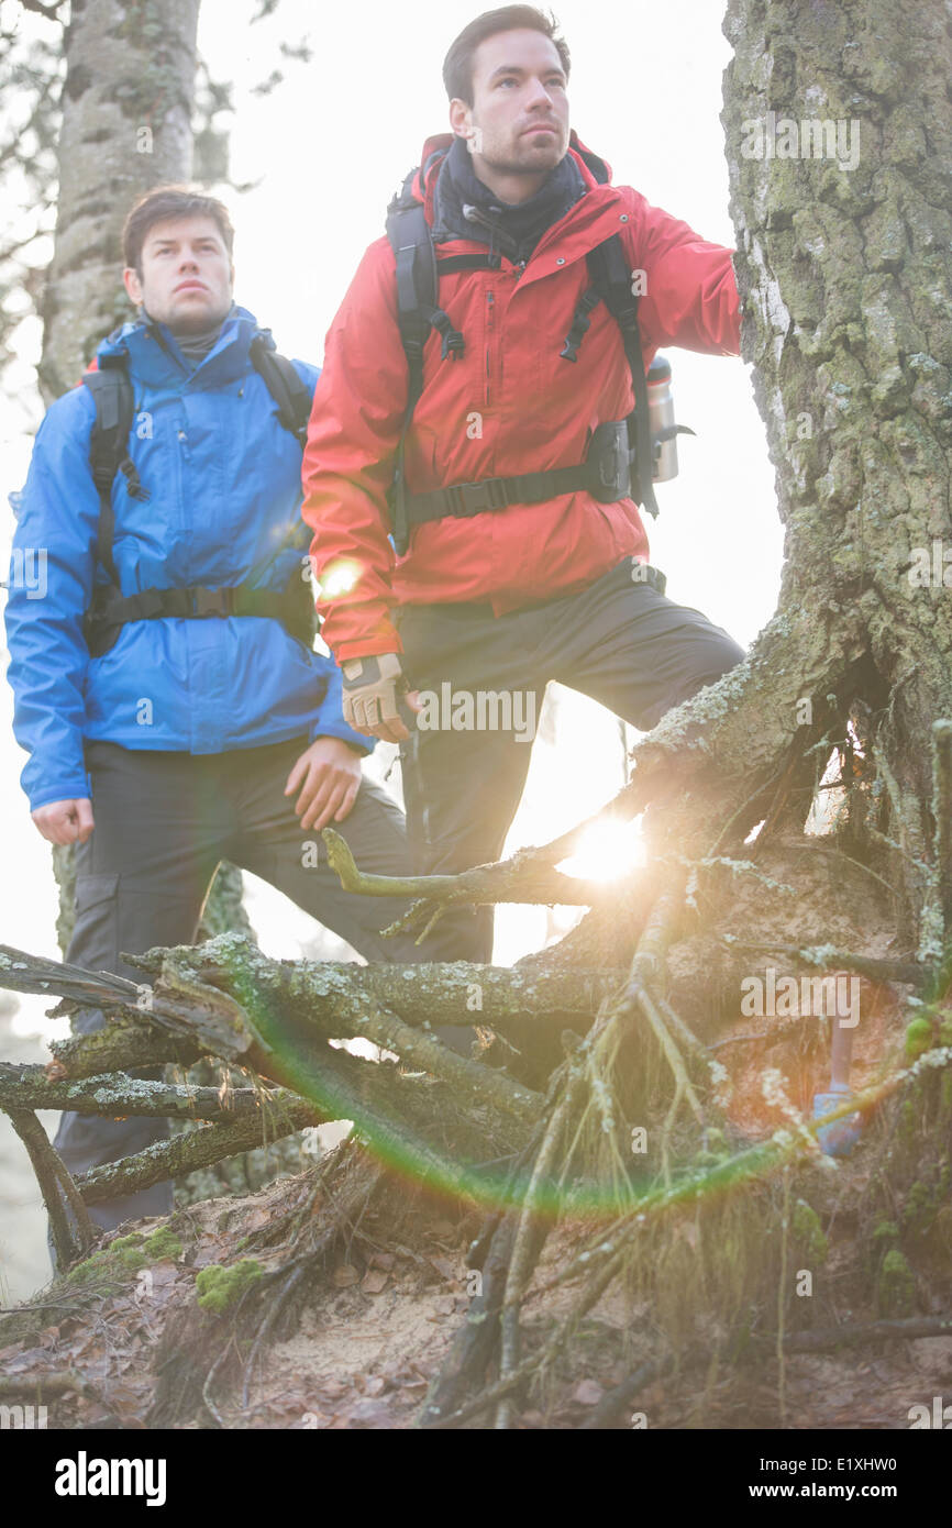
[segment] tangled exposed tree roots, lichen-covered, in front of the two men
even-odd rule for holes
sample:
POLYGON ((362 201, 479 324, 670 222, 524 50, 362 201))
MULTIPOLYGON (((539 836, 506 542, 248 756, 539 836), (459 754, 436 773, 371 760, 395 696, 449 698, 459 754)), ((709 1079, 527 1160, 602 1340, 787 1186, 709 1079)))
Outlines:
MULTIPOLYGON (((669 836, 678 836, 678 824, 689 821, 689 816, 680 814, 678 804, 669 804, 668 810, 669 836)), ((737 808, 740 828, 747 811, 749 805, 743 813, 737 808)), ((625 934, 630 941, 630 969, 620 983, 614 970, 565 973, 556 964, 539 961, 504 973, 466 966, 385 970, 316 964, 295 967, 266 961, 249 941, 234 937, 220 937, 200 950, 180 949, 139 957, 138 964, 156 978, 151 989, 125 984, 110 990, 108 978, 93 978, 99 1001, 125 1013, 125 1021, 116 1025, 116 1034, 110 1041, 110 1056, 134 1057, 134 1063, 141 1065, 144 1057, 156 1056, 156 1050, 150 1047, 160 1051, 162 1045, 171 1042, 186 1053, 191 1047, 232 1063, 238 1060, 255 1074, 280 1082, 290 1094, 237 1089, 225 1106, 214 1089, 142 1085, 139 1091, 138 1086, 127 1085, 125 1079, 102 1079, 101 1074, 83 1079, 81 1073, 92 1063, 93 1054, 101 1051, 95 1044, 87 1051, 81 1042, 70 1042, 66 1057, 58 1056, 57 1067, 50 1068, 52 1076, 41 1077, 23 1070, 11 1070, 9 1077, 0 1073, 0 1105, 6 1099, 14 1108, 17 1097, 21 1102, 29 1099, 35 1106, 47 1106, 53 1099, 69 1097, 70 1088, 76 1089, 72 1097, 81 1099, 86 1108, 105 1088, 112 1108, 136 1100, 141 1112, 154 1109, 159 1103, 162 1112, 170 1115, 177 1111, 185 1114, 188 1109, 197 1118, 205 1111, 214 1123, 177 1138, 188 1146, 176 1149, 188 1154, 211 1151, 212 1138, 219 1157, 257 1144, 261 1120, 275 1103, 280 1103, 284 1118, 269 1123, 272 1135, 280 1129, 298 1129, 301 1123, 318 1120, 358 1122, 361 1138, 371 1144, 377 1158, 368 1166, 359 1192, 355 1187, 355 1196, 347 1201, 348 1207, 341 1215, 325 1207, 318 1230, 307 1206, 298 1204, 293 1224, 281 1230, 281 1241, 272 1242, 281 1253, 278 1265, 243 1297, 235 1311, 241 1339, 237 1337, 237 1326, 229 1326, 211 1365, 206 1363, 189 1380, 193 1390, 197 1384, 206 1413, 217 1426, 231 1424, 223 1381, 231 1384, 234 1372, 238 1372, 241 1403, 248 1407, 269 1343, 292 1320, 295 1308, 321 1276, 329 1250, 345 1235, 359 1239, 359 1204, 365 1206, 377 1192, 382 1163, 391 1155, 413 1161, 417 1181, 448 1192, 455 1203, 481 1203, 491 1207, 471 1259, 474 1265, 481 1264, 481 1296, 472 1302, 468 1322, 431 1386, 419 1426, 448 1429, 486 1416, 495 1418, 497 1429, 513 1426, 521 1392, 530 1384, 549 1383, 556 1360, 570 1348, 579 1325, 608 1291, 617 1293, 622 1285, 656 1290, 659 1270, 677 1265, 677 1239, 685 1225, 694 1238, 692 1254, 695 1242, 701 1248, 697 1253, 698 1267, 714 1270, 714 1288, 718 1288, 717 1279, 724 1276, 717 1250, 718 1230, 723 1227, 729 1238, 737 1238, 737 1247, 744 1250, 740 1258, 744 1277, 749 1274, 753 1279, 753 1285, 747 1287, 741 1277, 724 1305, 715 1357, 737 1357, 732 1345, 738 1342, 743 1325, 741 1306, 753 1299, 753 1290, 756 1302, 761 1302, 758 1308, 767 1309, 761 1285, 769 1277, 776 1280, 776 1320, 773 1314, 770 1317, 776 1331, 752 1332, 750 1346, 759 1349, 764 1342, 770 1342, 776 1348, 782 1389, 784 1355, 808 1351, 808 1345, 798 1348, 804 1334, 785 1326, 788 1311, 784 1273, 793 1267, 787 1242, 776 1244, 773 1229, 767 1235, 764 1225, 767 1221, 772 1227, 775 1221, 782 1221, 785 1227, 788 1221, 785 1213, 778 1219, 775 1199, 781 1178, 788 1199, 792 1166, 813 1174, 819 1169, 821 1177, 836 1169, 818 1151, 819 1122, 804 1120, 784 1100, 785 1118, 772 1138, 743 1151, 730 1151, 723 1132, 718 1096, 723 1068, 668 996, 668 952, 685 926, 695 926, 700 917, 695 892, 700 888, 708 894, 706 876, 720 871, 732 876, 755 874, 772 891, 782 889, 775 879, 766 876, 763 862, 756 866, 726 854, 715 856, 709 850, 711 830, 706 824, 704 839, 704 854, 694 848, 695 857, 691 859, 692 843, 700 842, 700 830, 695 828, 694 839, 686 837, 683 854, 668 854, 659 862, 662 880, 656 885, 651 906, 645 908, 645 898, 637 908, 634 903, 619 903, 625 914, 631 908, 625 934), (562 1034, 565 1060, 550 1077, 546 1096, 504 1071, 492 1073, 475 1060, 448 1053, 428 1033, 434 1019, 455 1022, 461 1012, 469 1012, 463 999, 474 984, 483 998, 480 1019, 498 1025, 503 1034, 507 1027, 512 1025, 510 1033, 516 1033, 521 1025, 520 1033, 524 1036, 526 1025, 536 1022, 533 1013, 538 1013, 539 1027, 544 1025, 542 1015, 553 1010, 578 1022, 582 1033, 567 1027, 562 1034), (130 986, 136 993, 134 1013, 130 986), (387 1063, 359 1062, 327 1044, 332 1038, 350 1034, 396 1050, 405 1063, 426 1073, 429 1080, 406 1077, 387 1063), (67 1082, 63 1071, 78 1080, 67 1082), (426 1099, 431 1100, 432 1114, 440 1112, 432 1108, 432 1100, 437 1099, 440 1108, 451 1100, 458 1108, 458 1118, 465 1118, 466 1128, 472 1131, 469 1164, 461 1160, 457 1143, 451 1144, 449 1137, 437 1143, 422 1126, 420 1099, 425 1100, 423 1114, 426 1099), (648 1177, 639 1177, 639 1163, 633 1161, 627 1140, 630 1128, 642 1123, 651 1128, 656 1152, 648 1177), (238 1141, 234 1132, 252 1126, 255 1138, 243 1135, 238 1141), (729 1154, 715 1157, 714 1166, 698 1167, 698 1160, 712 1158, 709 1137, 723 1140, 729 1154), (501 1158, 507 1169, 497 1172, 492 1181, 480 1177, 480 1160, 491 1154, 501 1158), (539 1259, 558 1219, 572 1221, 578 1215, 591 1213, 593 1207, 594 1225, 587 1244, 556 1273, 539 1279, 539 1259), (694 1218, 689 1219, 689 1215, 694 1218), (763 1245, 766 1251, 763 1268, 749 1254, 756 1245, 763 1245), (567 1287, 573 1284, 578 1287, 570 1293, 567 1287), (526 1325, 526 1313, 530 1322, 535 1320, 539 1296, 556 1288, 564 1291, 567 1300, 562 1314, 542 1332, 538 1323, 526 1325)), ((715 848, 721 847, 721 839, 723 834, 715 848)), ((737 843, 724 847, 727 854, 737 851, 737 843)), ((494 891, 492 886, 489 889, 494 891)), ((432 900, 436 905, 439 897, 432 900)), ((491 895, 487 900, 497 898, 491 895)), ((836 946, 776 946, 766 940, 744 941, 744 947, 747 946, 802 960, 814 969, 824 969, 828 963, 847 967, 847 957, 836 946)), ((915 973, 920 986, 923 976, 935 973, 935 967, 926 967, 921 961, 883 961, 863 955, 854 958, 853 969, 874 981, 903 981, 915 973)), ((11 967, 5 966, 0 981, 8 976, 11 967)), ((79 1001, 84 993, 83 979, 83 973, 75 969, 63 976, 63 986, 69 987, 73 1001, 79 1001)), ((41 983, 43 990, 57 990, 58 978, 49 963, 34 970, 26 957, 17 960, 11 984, 23 986, 28 981, 41 983)), ((96 1041, 96 1036, 90 1039, 96 1041)), ((847 1100, 836 1114, 825 1115, 824 1126, 856 1112, 869 1115, 909 1079, 931 1068, 944 1068, 950 1059, 952 1051, 932 1048, 911 1068, 883 1076, 876 1085, 847 1100)), ((133 1184, 168 1177, 171 1157, 164 1157, 164 1152, 173 1146, 174 1143, 170 1148, 154 1148, 131 1163, 98 1169, 79 1181, 78 1192, 87 1203, 95 1203, 96 1195, 105 1198, 108 1193, 128 1192, 133 1184), (108 1186, 105 1178, 99 1181, 99 1177, 110 1174, 108 1186)), ((189 1163, 193 1160, 197 1158, 189 1155, 189 1163)), ((625 1400, 666 1372, 669 1363, 688 1361, 683 1358, 683 1345, 688 1343, 689 1351, 691 1334, 672 1335, 663 1320, 660 1329, 666 1343, 665 1354, 636 1366, 633 1375, 604 1398, 604 1409, 596 1412, 599 1420, 593 1416, 587 1426, 607 1424, 625 1400)), ((830 1329, 821 1329, 830 1335, 830 1329)), ((170 1363, 171 1384, 177 1371, 171 1357, 170 1363)), ((179 1380, 180 1375, 176 1383, 179 1380)), ((168 1400, 167 1390, 164 1395, 168 1400)), ((159 1415, 167 1416, 168 1409, 164 1412, 159 1407, 156 1416, 159 1415)))

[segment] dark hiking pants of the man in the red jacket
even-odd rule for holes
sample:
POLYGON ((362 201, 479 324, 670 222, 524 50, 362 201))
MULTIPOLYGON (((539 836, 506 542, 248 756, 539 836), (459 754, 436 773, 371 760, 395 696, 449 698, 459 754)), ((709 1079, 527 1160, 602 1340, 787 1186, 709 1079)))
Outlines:
MULTIPOLYGON (((506 616, 491 605, 400 607, 403 669, 429 697, 429 715, 400 750, 419 874, 500 857, 549 680, 646 732, 741 662, 743 648, 721 626, 666 599, 643 571, 627 558, 581 594, 506 616)), ((423 940, 423 958, 489 961, 492 921, 492 908, 446 912, 423 940)))

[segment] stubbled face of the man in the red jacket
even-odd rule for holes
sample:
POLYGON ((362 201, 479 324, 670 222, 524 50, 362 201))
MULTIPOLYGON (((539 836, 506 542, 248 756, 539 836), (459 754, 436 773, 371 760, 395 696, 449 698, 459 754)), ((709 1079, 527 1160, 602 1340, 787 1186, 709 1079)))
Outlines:
POLYGON ((469 139, 474 170, 504 202, 533 196, 568 148, 568 96, 555 43, 520 28, 474 53, 472 105, 452 101, 454 133, 469 139))

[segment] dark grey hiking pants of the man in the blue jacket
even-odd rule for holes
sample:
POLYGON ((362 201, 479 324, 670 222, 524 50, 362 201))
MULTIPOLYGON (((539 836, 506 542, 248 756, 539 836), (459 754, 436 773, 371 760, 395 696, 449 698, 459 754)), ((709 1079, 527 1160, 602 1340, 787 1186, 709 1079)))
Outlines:
MULTIPOLYGON (((410 937, 382 940, 379 929, 405 909, 403 900, 345 892, 327 863, 321 834, 304 831, 284 784, 307 738, 228 753, 133 752, 115 743, 87 743, 96 827, 76 853, 76 923, 66 960, 131 981, 142 972, 119 952, 194 943, 219 860, 228 859, 270 882, 367 960, 420 961, 410 937), (315 863, 316 860, 316 863, 315 863)), ((364 779, 350 816, 333 824, 361 869, 382 876, 408 871, 403 814, 364 779)), ((99 1008, 73 1015, 76 1033, 101 1028, 99 1008)), ((64 1114, 55 1146, 72 1174, 142 1151, 168 1135, 162 1118, 104 1120, 64 1114)), ((112 1230, 144 1215, 168 1215, 171 1183, 90 1209, 112 1230)))

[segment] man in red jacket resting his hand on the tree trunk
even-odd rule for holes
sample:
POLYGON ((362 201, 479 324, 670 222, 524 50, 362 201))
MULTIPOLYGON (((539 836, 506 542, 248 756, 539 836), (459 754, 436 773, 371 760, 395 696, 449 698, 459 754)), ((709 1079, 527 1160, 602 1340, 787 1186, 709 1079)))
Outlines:
MULTIPOLYGON (((526 5, 455 40, 452 136, 425 145, 414 182, 439 270, 420 396, 406 423, 397 261, 380 238, 327 336, 310 420, 322 634, 350 726, 402 744, 425 872, 498 859, 549 680, 649 729, 743 657, 665 597, 627 477, 593 492, 581 469, 634 400, 591 252, 620 235, 648 367, 662 344, 738 354, 730 251, 610 183, 570 131, 568 67, 555 23, 526 5), (394 549, 400 460, 408 545, 397 533, 394 549)), ((446 914, 426 952, 487 961, 492 909, 446 914)))

